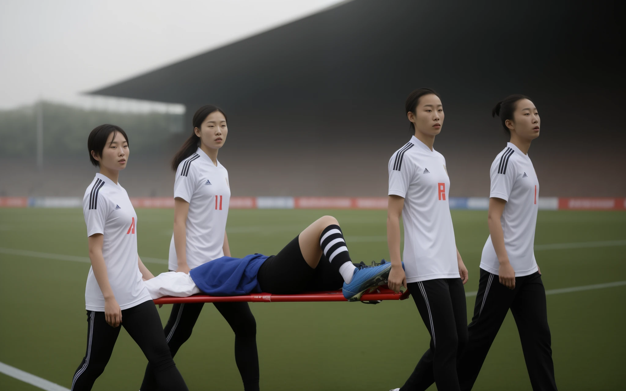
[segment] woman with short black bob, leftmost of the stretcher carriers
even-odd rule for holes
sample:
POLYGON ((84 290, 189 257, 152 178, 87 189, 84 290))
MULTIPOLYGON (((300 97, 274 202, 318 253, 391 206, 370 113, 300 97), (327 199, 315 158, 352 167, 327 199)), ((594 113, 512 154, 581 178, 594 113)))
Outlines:
POLYGON ((83 198, 91 259, 85 288, 87 351, 71 389, 91 390, 105 370, 122 325, 148 358, 158 387, 187 390, 156 307, 141 281, 153 275, 137 254, 137 215, 118 183, 128 161, 128 137, 120 127, 104 124, 91 131, 87 147, 100 173, 83 198))

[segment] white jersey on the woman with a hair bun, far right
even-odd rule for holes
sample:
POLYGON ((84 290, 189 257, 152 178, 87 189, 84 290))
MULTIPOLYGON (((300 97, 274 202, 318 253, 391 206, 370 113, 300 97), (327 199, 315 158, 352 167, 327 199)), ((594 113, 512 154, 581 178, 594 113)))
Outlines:
MULTIPOLYGON (((519 148, 507 143, 505 150, 491 163, 490 197, 506 201, 500 222, 505 248, 515 277, 537 271, 535 261, 535 225, 537 222, 539 181, 533 162, 519 148)), ((498 274, 500 263, 491 243, 491 235, 483 247, 480 268, 498 274)))

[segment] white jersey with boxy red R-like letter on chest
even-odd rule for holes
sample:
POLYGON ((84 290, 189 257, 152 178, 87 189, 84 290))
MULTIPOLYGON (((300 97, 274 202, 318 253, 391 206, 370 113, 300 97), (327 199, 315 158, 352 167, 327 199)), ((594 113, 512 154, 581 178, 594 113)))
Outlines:
POLYGON ((389 195, 404 198, 404 268, 407 282, 461 278, 441 153, 411 137, 389 160, 389 195))

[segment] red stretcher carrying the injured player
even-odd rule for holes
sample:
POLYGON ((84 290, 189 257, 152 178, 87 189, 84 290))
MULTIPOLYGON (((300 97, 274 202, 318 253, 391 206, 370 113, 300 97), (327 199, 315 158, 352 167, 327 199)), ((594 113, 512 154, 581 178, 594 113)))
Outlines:
MULTIPOLYGON (((376 291, 364 293, 361 302, 377 302, 378 300, 404 300, 409 297, 409 290, 393 292, 384 287, 376 288, 376 291)), ((225 303, 225 302, 250 302, 250 303, 285 303, 285 302, 347 302, 341 290, 326 292, 305 292, 297 295, 273 295, 272 293, 250 293, 242 296, 210 296, 192 295, 189 297, 165 296, 154 300, 155 304, 177 303, 225 303)))

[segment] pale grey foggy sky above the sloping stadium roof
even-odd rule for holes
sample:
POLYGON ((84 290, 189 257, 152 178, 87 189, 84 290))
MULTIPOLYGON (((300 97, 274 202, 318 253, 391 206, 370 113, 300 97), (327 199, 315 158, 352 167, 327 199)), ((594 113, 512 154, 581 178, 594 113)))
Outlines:
POLYGON ((81 92, 232 43, 339 0, 0 2, 0 109, 81 92))

